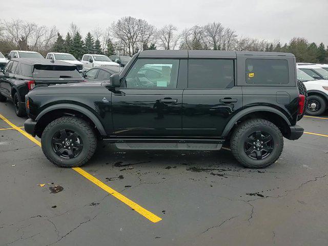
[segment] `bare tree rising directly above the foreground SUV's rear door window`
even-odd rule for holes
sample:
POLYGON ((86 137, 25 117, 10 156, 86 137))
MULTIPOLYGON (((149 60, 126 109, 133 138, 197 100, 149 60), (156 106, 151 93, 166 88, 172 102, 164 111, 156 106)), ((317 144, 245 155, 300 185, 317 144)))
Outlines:
POLYGON ((207 42, 213 50, 220 50, 224 40, 224 27, 219 22, 209 23, 204 26, 207 42))

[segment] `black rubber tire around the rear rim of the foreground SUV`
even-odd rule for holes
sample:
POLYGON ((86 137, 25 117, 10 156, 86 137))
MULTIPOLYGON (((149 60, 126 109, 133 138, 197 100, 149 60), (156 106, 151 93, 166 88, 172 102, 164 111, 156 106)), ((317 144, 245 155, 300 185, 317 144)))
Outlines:
POLYGON ((242 122, 234 130, 231 136, 230 148, 234 157, 245 168, 266 168, 272 165, 281 155, 283 149, 283 136, 279 128, 272 122, 265 119, 249 119, 242 122), (250 158, 244 151, 244 140, 256 131, 268 132, 274 141, 272 153, 264 159, 257 160, 250 158))

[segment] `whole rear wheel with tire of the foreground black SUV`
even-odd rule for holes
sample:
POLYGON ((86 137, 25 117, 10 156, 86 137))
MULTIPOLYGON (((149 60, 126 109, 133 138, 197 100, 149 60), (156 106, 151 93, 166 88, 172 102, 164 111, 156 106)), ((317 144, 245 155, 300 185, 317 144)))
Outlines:
POLYGON ((279 128, 265 119, 242 122, 232 134, 231 151, 246 168, 266 168, 281 155, 283 137, 279 128))

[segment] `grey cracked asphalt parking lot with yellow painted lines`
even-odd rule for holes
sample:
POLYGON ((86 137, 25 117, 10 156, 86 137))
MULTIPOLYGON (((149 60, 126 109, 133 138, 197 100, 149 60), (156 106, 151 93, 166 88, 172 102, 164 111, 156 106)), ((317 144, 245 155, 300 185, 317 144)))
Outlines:
POLYGON ((299 121, 306 133, 261 170, 229 149, 105 144, 80 170, 57 168, 12 129, 25 118, 10 102, 0 114, 0 245, 328 244, 327 114, 299 121))

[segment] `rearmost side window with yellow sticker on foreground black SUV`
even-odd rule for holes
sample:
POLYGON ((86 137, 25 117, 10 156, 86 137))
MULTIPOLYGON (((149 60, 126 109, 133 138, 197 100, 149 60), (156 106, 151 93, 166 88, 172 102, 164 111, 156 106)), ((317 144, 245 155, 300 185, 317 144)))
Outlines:
POLYGON ((246 59, 246 83, 288 84, 288 61, 282 59, 246 59))

